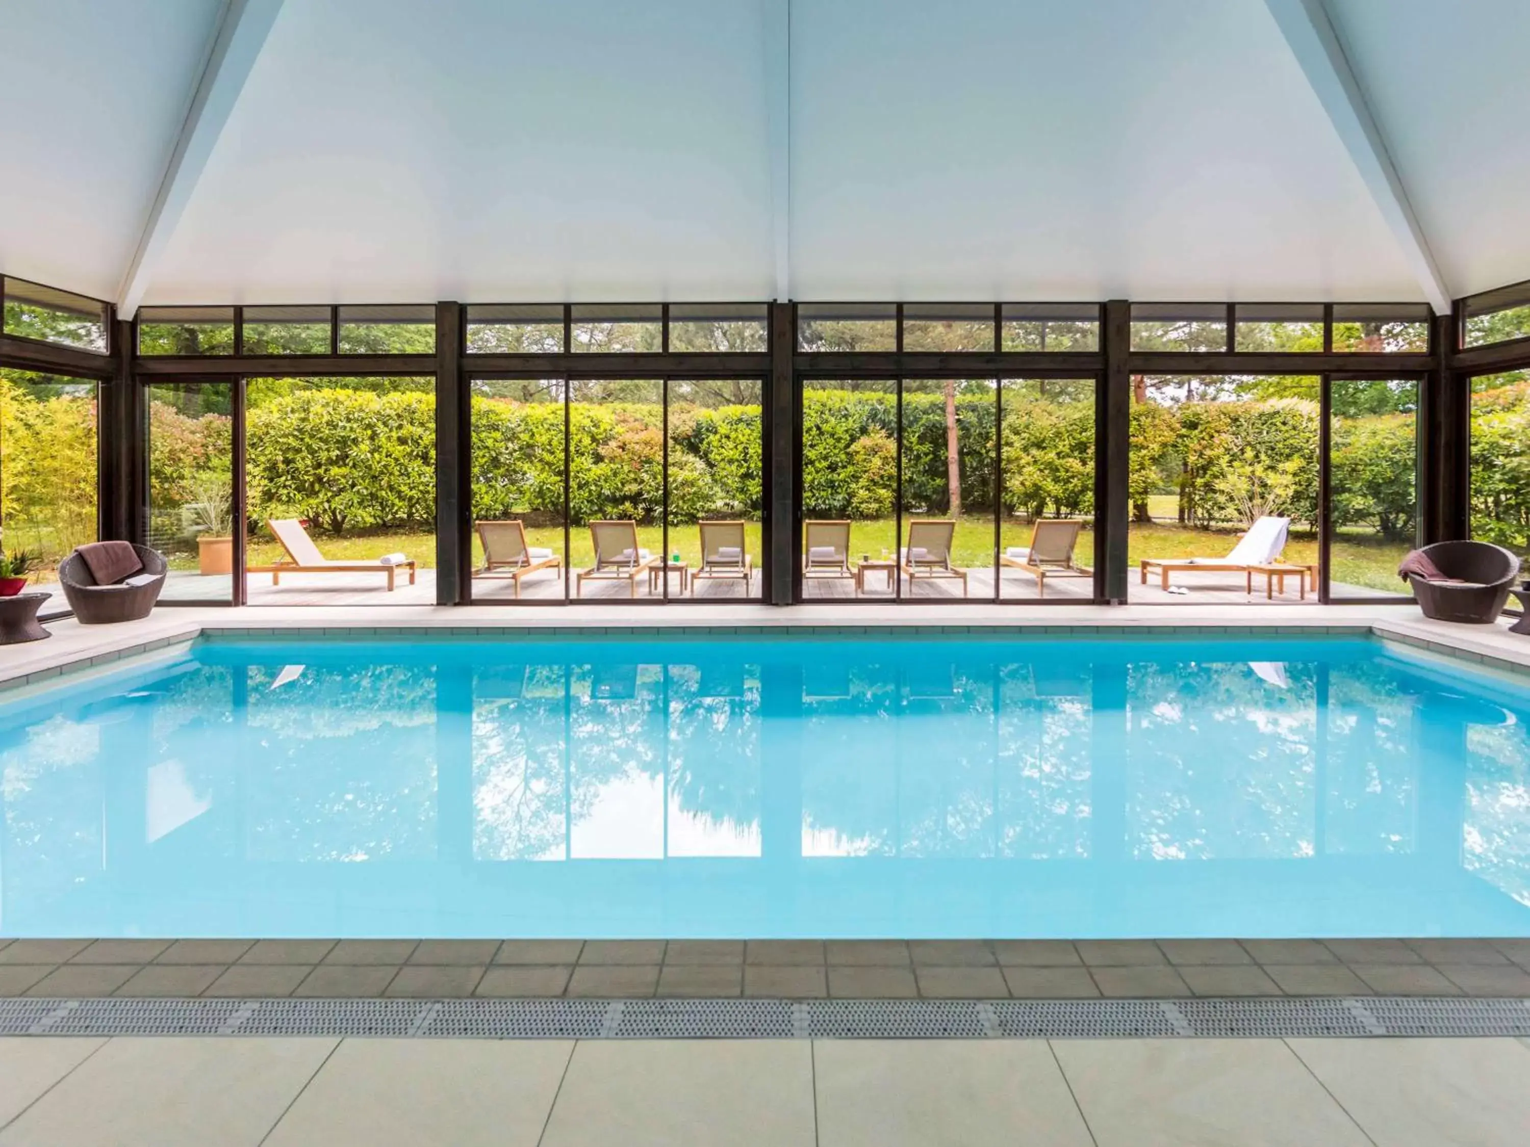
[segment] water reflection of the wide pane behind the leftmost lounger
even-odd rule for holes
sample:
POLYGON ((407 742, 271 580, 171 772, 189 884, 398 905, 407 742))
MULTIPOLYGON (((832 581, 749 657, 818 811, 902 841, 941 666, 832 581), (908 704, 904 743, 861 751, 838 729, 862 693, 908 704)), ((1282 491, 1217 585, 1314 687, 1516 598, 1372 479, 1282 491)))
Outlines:
POLYGON ((249 670, 248 855, 425 858, 436 852, 436 667, 249 670))

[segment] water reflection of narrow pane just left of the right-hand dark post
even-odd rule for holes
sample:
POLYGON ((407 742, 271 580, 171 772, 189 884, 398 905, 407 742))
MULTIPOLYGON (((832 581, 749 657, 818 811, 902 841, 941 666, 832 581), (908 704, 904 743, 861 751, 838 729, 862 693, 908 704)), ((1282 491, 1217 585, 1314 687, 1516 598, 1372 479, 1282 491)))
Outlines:
POLYGON ((1030 665, 1001 668, 999 855, 1089 855, 1094 762, 1086 688, 1073 696, 1040 696, 1030 665))

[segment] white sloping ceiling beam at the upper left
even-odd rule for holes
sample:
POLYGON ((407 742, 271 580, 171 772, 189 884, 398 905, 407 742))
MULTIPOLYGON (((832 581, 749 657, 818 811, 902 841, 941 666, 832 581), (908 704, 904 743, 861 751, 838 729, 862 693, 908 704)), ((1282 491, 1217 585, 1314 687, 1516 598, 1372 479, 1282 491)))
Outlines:
POLYGON ((228 116, 245 90, 245 81, 260 58, 266 35, 282 11, 282 0, 228 0, 217 34, 187 104, 176 145, 165 164, 155 202, 116 292, 116 309, 132 318, 148 289, 159 262, 196 191, 207 161, 228 125, 228 116))

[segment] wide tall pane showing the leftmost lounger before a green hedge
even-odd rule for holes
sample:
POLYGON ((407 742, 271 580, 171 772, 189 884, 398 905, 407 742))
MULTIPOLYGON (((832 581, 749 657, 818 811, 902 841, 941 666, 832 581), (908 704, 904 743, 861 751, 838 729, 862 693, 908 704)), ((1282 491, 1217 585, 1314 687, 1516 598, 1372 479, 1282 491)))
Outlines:
POLYGON ((245 401, 249 604, 433 603, 436 379, 256 378, 245 401))

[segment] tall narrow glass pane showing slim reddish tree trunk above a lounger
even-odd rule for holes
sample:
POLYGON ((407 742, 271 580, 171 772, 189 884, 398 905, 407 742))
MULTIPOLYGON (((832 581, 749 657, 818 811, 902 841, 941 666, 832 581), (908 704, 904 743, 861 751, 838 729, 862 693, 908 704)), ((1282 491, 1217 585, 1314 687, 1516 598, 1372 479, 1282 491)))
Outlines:
POLYGON ((993 596, 993 379, 904 379, 904 598, 993 596))

